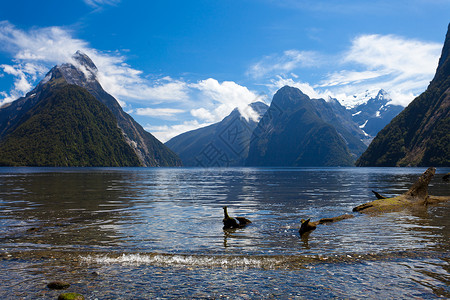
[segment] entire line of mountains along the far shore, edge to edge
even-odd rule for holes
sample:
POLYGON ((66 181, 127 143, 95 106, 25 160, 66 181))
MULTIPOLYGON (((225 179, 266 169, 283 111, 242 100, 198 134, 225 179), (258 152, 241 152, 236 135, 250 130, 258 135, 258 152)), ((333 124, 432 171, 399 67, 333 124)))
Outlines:
POLYGON ((448 39, 427 91, 400 114, 384 90, 346 108, 285 86, 270 106, 236 108, 165 145, 122 110, 78 51, 0 108, 0 165, 352 166, 358 157, 358 166, 449 165, 448 39))

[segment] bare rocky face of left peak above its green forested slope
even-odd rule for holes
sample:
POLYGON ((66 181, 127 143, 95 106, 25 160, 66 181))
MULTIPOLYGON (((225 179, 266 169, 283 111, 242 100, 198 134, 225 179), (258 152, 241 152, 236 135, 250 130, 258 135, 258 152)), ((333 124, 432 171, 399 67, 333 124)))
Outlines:
MULTIPOLYGON (((30 116, 36 110, 33 110, 41 101, 48 101, 48 95, 54 95, 56 90, 62 86, 77 86, 88 94, 93 96, 99 104, 104 105, 111 113, 112 121, 115 127, 119 129, 123 141, 135 157, 138 158, 137 163, 126 164, 135 166, 180 166, 181 161, 170 149, 159 142, 150 133, 146 132, 137 122, 126 114, 120 107, 117 100, 110 94, 105 92, 97 81, 97 68, 88 56, 81 52, 77 52, 73 56, 73 64, 66 63, 55 66, 46 77, 36 86, 36 88, 12 103, 0 108, 0 144, 3 144, 8 136, 18 129, 23 123, 33 116, 30 116)), ((61 97, 66 94, 58 94, 61 97)), ((72 98, 63 99, 67 101, 72 98)), ((92 100, 92 99, 91 99, 92 100)), ((58 102, 63 104, 63 102, 58 102)), ((54 104, 57 105, 57 104, 54 104)), ((62 110, 64 111, 64 110, 62 110)), ((64 113, 66 113, 64 111, 64 113)), ((77 122, 82 123, 85 119, 83 113, 88 111, 80 111, 77 122)), ((93 112, 95 115, 95 112, 93 112)), ((57 116, 54 116, 57 117, 57 116)), ((109 117, 108 117, 109 118, 109 117)), ((34 118, 35 122, 38 118, 34 118)), ((53 123, 48 123, 52 126, 53 123)), ((88 129, 88 127, 86 127, 88 129)), ((107 133, 103 133, 106 134, 107 133)), ((30 137, 33 139, 33 137, 30 137)), ((38 149, 35 149, 38 151, 38 149)), ((130 162, 133 161, 132 159, 130 162)), ((50 162, 49 162, 50 163, 50 162)), ((20 162, 17 162, 20 164, 20 162)), ((57 165, 50 163, 51 165, 57 165)), ((71 164, 73 165, 73 164, 71 164)), ((85 165, 84 163, 82 165, 85 165)), ((97 165, 97 164, 95 164, 97 165)))

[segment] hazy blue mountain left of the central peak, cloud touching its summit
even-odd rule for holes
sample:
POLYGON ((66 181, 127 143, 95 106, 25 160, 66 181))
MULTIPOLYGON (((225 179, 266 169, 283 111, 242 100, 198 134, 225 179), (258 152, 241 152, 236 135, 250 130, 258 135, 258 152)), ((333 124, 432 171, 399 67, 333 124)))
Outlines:
MULTIPOLYGON (((268 106, 262 102, 249 105, 259 116, 268 106)), ((244 166, 252 132, 257 120, 244 117, 236 108, 219 123, 180 134, 166 143, 179 155, 184 166, 244 166)))

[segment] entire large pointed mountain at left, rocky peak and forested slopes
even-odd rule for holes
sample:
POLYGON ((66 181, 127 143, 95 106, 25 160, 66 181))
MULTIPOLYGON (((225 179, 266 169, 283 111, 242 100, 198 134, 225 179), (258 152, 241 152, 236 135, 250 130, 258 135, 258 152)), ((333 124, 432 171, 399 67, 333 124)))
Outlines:
POLYGON ((103 90, 96 75, 97 68, 92 60, 78 51, 72 63, 55 66, 25 97, 1 107, 2 164, 181 165, 175 153, 146 132, 103 90), (14 149, 20 150, 17 156, 14 156, 14 149), (127 158, 116 157, 113 155, 116 151, 121 153, 117 154, 119 157, 127 158), (61 157, 57 158, 58 155, 61 157), (103 157, 108 155, 109 159, 103 157), (38 156, 39 159, 32 159, 38 156), (87 159, 88 156, 98 157, 87 159))

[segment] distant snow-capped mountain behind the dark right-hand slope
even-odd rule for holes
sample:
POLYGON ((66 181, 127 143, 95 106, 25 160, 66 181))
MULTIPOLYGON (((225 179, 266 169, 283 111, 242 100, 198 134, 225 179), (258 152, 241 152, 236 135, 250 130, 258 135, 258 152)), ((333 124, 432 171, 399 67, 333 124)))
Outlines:
POLYGON ((375 97, 350 109, 352 119, 373 138, 403 110, 403 106, 390 104, 391 101, 389 94, 380 90, 375 97))

